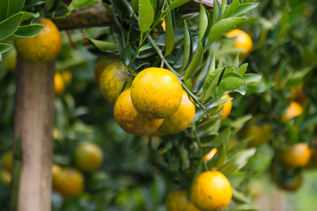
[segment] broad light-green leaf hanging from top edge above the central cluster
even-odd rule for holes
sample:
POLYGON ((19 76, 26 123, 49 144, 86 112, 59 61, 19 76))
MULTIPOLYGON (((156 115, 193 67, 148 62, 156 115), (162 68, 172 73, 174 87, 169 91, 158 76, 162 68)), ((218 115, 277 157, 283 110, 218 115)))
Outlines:
MULTIPOLYGON (((167 16, 167 15, 166 15, 167 16)), ((147 32, 154 20, 154 12, 149 0, 139 0, 139 29, 147 32)), ((168 23, 166 23, 166 28, 168 23)), ((166 29, 167 31, 167 29, 166 29)))

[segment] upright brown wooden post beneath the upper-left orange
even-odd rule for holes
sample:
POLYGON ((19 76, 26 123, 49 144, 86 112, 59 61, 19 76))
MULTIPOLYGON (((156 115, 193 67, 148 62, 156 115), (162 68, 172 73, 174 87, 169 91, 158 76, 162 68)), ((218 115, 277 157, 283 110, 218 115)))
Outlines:
POLYGON ((14 145, 18 146, 20 141, 23 167, 15 200, 21 211, 51 210, 54 72, 54 60, 30 63, 18 57, 14 145))

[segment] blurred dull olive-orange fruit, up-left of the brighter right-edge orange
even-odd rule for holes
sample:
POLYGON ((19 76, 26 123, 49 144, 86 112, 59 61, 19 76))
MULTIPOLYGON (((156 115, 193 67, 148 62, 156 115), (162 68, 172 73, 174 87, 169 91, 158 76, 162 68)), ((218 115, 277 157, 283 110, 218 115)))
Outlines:
POLYGON ((272 139, 272 126, 266 122, 258 121, 257 118, 252 118, 249 126, 245 129, 244 136, 253 137, 249 142, 249 146, 260 146, 272 139))

